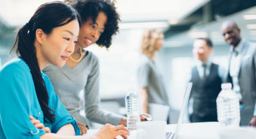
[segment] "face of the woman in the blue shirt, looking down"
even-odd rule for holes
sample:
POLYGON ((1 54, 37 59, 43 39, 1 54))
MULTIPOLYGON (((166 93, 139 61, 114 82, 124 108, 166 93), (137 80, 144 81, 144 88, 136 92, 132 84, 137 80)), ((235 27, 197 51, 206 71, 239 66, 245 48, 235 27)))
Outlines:
MULTIPOLYGON (((43 33, 41 46, 37 47, 37 57, 41 65, 63 66, 73 53, 79 35, 79 22, 72 20, 65 26, 56 27, 50 35, 43 33)), ((40 64, 40 63, 39 63, 40 64)))

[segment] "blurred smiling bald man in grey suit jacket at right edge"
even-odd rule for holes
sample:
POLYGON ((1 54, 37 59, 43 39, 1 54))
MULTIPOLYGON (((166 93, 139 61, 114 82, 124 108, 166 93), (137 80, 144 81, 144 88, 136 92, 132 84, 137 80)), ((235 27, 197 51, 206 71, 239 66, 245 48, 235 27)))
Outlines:
POLYGON ((256 45, 242 39, 234 22, 224 22, 221 32, 230 44, 229 68, 225 82, 233 84, 239 96, 241 125, 256 126, 256 45))

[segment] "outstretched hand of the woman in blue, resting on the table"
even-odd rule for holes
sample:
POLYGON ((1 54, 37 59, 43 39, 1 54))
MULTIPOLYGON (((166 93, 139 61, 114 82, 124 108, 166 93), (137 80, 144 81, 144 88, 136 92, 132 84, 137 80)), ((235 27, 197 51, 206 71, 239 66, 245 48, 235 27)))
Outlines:
POLYGON ((123 138, 128 138, 129 131, 127 128, 125 128, 124 125, 110 125, 106 124, 103 126, 103 128, 100 129, 100 131, 95 134, 96 138, 99 139, 113 139, 117 136, 121 135, 123 138))

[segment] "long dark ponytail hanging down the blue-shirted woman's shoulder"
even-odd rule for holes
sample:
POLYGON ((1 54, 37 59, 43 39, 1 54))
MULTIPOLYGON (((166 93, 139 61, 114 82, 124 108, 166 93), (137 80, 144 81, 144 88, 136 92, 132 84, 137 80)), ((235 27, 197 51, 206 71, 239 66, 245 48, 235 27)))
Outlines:
MULTIPOLYGON (((26 23, 26 25, 23 26, 17 33, 14 47, 19 46, 17 47, 16 54, 17 56, 20 56, 20 58, 23 59, 29 66, 35 85, 35 92, 39 100, 40 107, 45 115, 44 120, 54 122, 54 110, 48 107, 49 96, 45 87, 45 81, 42 78, 32 40, 35 40, 35 30, 32 30, 32 26, 30 26, 29 23, 26 23)), ((12 47, 11 50, 13 50, 14 47, 12 47)))

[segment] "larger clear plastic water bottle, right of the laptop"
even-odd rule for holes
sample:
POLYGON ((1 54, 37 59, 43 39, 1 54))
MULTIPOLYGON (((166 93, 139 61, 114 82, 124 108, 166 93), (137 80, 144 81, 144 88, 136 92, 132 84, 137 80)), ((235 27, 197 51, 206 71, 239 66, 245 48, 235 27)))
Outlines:
POLYGON ((221 84, 222 90, 217 95, 217 120, 221 125, 239 126, 239 98, 231 88, 231 83, 221 84))

